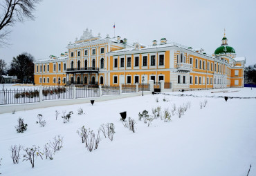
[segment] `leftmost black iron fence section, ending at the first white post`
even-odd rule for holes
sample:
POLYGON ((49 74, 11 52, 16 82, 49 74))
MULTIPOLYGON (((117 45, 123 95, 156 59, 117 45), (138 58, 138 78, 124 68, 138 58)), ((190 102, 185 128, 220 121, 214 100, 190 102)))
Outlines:
POLYGON ((37 89, 0 90, 0 105, 35 102, 39 102, 39 90, 37 89))

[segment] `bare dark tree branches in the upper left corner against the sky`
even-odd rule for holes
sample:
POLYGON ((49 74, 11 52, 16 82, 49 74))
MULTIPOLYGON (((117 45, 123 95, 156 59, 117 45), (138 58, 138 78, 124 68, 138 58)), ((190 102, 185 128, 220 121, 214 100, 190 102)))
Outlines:
POLYGON ((33 12, 42 0, 2 0, 0 2, 0 47, 8 45, 10 27, 25 19, 34 20, 33 12))

